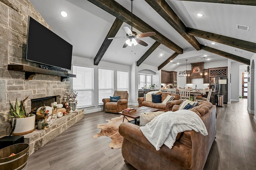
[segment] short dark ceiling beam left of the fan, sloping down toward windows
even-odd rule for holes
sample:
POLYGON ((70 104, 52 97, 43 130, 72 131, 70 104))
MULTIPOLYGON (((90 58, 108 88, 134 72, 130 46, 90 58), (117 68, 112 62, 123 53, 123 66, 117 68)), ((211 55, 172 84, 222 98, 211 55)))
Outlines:
POLYGON ((106 38, 104 39, 102 45, 100 46, 98 53, 94 57, 94 65, 98 65, 100 63, 100 60, 102 59, 102 57, 105 54, 105 52, 107 51, 110 43, 112 42, 112 40, 108 40, 108 38, 116 36, 116 33, 118 32, 118 30, 120 29, 122 24, 123 24, 123 22, 121 20, 119 20, 118 18, 116 18, 116 20, 112 24, 112 26, 106 36, 106 38))

